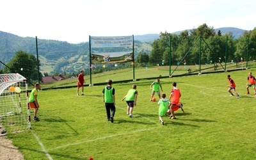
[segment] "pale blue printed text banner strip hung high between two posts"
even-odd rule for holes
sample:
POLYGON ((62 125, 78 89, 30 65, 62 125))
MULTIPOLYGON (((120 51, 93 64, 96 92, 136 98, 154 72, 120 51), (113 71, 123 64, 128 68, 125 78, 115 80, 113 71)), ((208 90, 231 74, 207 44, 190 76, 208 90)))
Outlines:
POLYGON ((92 48, 129 47, 133 45, 132 36, 90 36, 92 48))

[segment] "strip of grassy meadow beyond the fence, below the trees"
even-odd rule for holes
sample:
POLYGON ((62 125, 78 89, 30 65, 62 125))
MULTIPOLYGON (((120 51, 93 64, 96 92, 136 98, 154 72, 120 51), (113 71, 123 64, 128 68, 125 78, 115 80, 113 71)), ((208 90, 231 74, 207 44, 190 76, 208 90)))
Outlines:
MULTIPOLYGON (((225 67, 225 63, 222 63, 223 67, 225 67)), ((248 67, 255 67, 256 62, 250 61, 248 63, 248 67)), ((246 63, 244 63, 243 68, 246 67, 246 63)), ((199 67, 195 65, 180 65, 179 67, 172 66, 171 68, 171 74, 172 76, 178 76, 178 75, 184 75, 188 74, 188 68, 191 68, 193 74, 199 73, 199 67), (174 72, 173 72, 174 71, 174 72)), ((226 66, 227 70, 233 70, 236 69, 236 64, 227 63, 226 66)), ((239 63, 238 68, 242 68, 241 63, 239 63)), ((201 72, 214 72, 214 71, 220 71, 224 70, 220 64, 217 70, 214 70, 213 65, 202 65, 201 66, 201 72)), ((124 80, 132 80, 132 79, 150 79, 152 77, 168 77, 170 75, 170 67, 168 66, 159 66, 159 67, 136 67, 134 70, 134 77, 133 77, 133 69, 132 68, 126 68, 123 70, 113 70, 108 72, 102 72, 100 74, 92 74, 92 84, 97 83, 104 83, 108 79, 112 79, 113 81, 124 81, 124 80)), ((84 79, 86 81, 86 84, 90 84, 90 76, 84 76, 84 79)), ((57 81, 54 83, 43 83, 41 86, 42 88, 58 88, 58 87, 65 87, 65 86, 76 86, 77 78, 73 79, 67 79, 65 81, 57 81)))

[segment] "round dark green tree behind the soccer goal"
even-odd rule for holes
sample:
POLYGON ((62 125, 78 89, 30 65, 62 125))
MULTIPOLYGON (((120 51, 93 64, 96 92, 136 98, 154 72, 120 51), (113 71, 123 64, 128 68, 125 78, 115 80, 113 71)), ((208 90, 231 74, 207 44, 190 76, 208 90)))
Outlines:
POLYGON ((41 77, 38 79, 38 66, 40 66, 40 63, 37 63, 34 54, 19 50, 6 66, 8 67, 4 67, 5 73, 19 73, 26 77, 30 83, 41 80, 41 77))

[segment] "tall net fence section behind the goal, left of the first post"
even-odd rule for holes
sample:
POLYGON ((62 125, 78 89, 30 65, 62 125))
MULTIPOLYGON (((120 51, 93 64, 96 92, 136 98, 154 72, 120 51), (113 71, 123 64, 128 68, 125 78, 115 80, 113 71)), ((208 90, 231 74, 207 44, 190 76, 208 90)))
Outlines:
POLYGON ((35 38, 22 39, 15 35, 1 38, 0 36, 0 55, 2 73, 19 73, 28 79, 28 84, 41 80, 35 38))

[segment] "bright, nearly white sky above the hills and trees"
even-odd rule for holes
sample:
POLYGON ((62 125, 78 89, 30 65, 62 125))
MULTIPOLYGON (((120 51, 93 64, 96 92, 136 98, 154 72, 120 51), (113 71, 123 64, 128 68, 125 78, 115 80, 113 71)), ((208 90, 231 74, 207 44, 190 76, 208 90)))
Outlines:
POLYGON ((38 39, 88 42, 91 36, 256 27, 253 0, 6 0, 0 31, 38 39))

